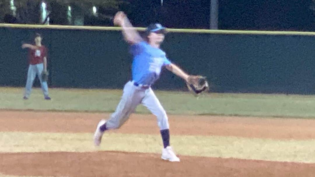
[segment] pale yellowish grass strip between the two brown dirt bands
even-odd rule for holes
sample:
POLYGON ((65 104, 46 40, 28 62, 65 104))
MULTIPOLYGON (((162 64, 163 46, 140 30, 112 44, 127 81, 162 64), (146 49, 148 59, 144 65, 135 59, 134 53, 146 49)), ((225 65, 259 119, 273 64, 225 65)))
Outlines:
MULTIPOLYGON (((0 132, 0 152, 124 151, 161 153, 159 135, 106 133, 100 148, 92 133, 0 132), (107 142, 107 143, 106 143, 107 142)), ((315 163, 315 140, 272 140, 226 136, 171 136, 180 155, 315 163)))

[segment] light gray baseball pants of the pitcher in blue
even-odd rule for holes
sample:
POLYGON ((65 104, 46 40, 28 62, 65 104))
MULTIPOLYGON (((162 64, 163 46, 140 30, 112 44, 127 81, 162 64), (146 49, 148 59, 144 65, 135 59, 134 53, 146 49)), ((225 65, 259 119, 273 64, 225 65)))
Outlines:
POLYGON ((123 96, 116 111, 112 113, 110 118, 106 121, 106 128, 117 129, 122 126, 139 104, 143 104, 157 117, 157 125, 160 127, 160 130, 169 129, 169 121, 166 112, 151 87, 142 89, 140 86, 135 86, 133 81, 129 81, 125 84, 123 96))

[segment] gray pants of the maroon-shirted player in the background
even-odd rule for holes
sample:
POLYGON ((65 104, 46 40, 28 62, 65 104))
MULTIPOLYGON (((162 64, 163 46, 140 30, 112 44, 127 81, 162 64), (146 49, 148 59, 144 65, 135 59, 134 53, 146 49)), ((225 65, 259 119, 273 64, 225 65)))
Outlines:
POLYGON ((30 66, 28 67, 28 71, 27 71, 27 80, 26 80, 26 86, 25 86, 25 93, 24 96, 25 97, 29 97, 32 91, 32 86, 33 86, 33 82, 34 79, 36 77, 36 75, 39 78, 40 84, 42 86, 42 91, 44 94, 44 97, 48 97, 48 85, 46 81, 42 80, 41 74, 43 72, 44 69, 44 64, 30 64, 30 66))

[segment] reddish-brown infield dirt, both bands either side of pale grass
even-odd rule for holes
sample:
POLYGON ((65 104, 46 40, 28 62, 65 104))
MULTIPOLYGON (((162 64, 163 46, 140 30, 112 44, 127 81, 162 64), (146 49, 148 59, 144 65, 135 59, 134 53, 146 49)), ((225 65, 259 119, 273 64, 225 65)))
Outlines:
MULTIPOLYGON (((0 131, 94 132, 103 113, 1 111, 0 131)), ((169 115, 172 135, 315 139, 315 120, 169 115)), ((158 134, 152 115, 131 116, 119 133, 158 134)), ((1 139, 1 138, 0 138, 1 139)), ((313 176, 315 164, 117 151, 0 153, 0 174, 17 176, 313 176)))

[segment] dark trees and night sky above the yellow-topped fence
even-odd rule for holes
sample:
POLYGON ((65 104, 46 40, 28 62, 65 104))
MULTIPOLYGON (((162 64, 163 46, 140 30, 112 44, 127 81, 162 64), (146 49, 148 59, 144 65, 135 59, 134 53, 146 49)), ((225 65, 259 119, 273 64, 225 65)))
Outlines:
MULTIPOLYGON (((0 23, 37 24, 41 0, 15 1, 16 17, 10 16, 9 0, 0 1, 0 23), (21 2, 21 3, 17 3, 21 2), (4 16, 6 18, 4 18, 4 16)), ((168 28, 209 29, 211 0, 46 0, 50 24, 69 25, 67 7, 73 20, 83 15, 84 25, 113 26, 114 14, 128 14, 133 25, 146 27, 159 22, 168 28), (68 3, 67 3, 68 2, 68 3), (98 16, 92 15, 96 5, 98 16)), ((314 31, 313 0, 218 0, 218 27, 221 30, 293 30, 314 31)), ((81 18, 81 17, 79 17, 81 18)))

